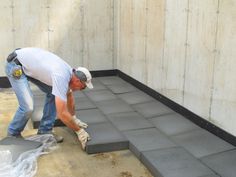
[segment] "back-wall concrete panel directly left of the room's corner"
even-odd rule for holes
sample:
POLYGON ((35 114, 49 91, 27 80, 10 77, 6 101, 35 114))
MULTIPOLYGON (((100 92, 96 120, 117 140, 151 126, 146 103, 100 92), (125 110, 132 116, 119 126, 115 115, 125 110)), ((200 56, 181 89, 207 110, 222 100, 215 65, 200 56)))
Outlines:
POLYGON ((93 70, 113 68, 113 1, 84 3, 84 65, 93 70))

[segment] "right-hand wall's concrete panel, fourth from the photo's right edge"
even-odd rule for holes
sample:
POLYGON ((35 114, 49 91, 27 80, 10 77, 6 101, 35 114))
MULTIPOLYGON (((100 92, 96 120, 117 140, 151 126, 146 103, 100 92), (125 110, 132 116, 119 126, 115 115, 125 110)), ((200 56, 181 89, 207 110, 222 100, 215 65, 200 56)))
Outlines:
POLYGON ((155 90, 163 88, 165 1, 147 1, 146 83, 155 90), (155 72, 153 72, 155 71, 155 72))

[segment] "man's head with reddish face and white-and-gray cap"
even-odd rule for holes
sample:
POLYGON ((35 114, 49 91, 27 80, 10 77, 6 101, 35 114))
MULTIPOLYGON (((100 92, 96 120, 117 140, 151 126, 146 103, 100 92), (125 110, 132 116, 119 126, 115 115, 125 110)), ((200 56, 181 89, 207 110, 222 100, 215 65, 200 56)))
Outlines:
POLYGON ((72 90, 82 90, 86 86, 92 89, 93 84, 91 80, 92 76, 89 70, 84 67, 78 67, 77 69, 73 69, 73 77, 70 85, 72 90))

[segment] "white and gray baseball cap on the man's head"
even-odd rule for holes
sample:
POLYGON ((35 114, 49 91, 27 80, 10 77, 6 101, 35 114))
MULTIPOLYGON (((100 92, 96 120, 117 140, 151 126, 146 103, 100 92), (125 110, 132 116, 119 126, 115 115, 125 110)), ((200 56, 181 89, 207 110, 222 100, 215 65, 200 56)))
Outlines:
POLYGON ((83 82, 85 82, 86 86, 89 89, 93 88, 93 84, 91 82, 92 80, 92 76, 91 73, 89 72, 89 70, 87 68, 84 67, 78 67, 77 69, 75 69, 75 75, 83 82))

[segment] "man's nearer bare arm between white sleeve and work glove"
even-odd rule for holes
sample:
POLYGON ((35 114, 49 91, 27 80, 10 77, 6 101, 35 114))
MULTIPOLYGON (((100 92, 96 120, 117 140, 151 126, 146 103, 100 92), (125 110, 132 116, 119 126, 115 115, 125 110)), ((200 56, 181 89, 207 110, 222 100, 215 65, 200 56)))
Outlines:
POLYGON ((74 131, 80 130, 80 127, 72 119, 72 115, 67 109, 67 103, 60 99, 59 97, 55 96, 55 103, 57 109, 57 116, 59 119, 69 128, 74 131))

